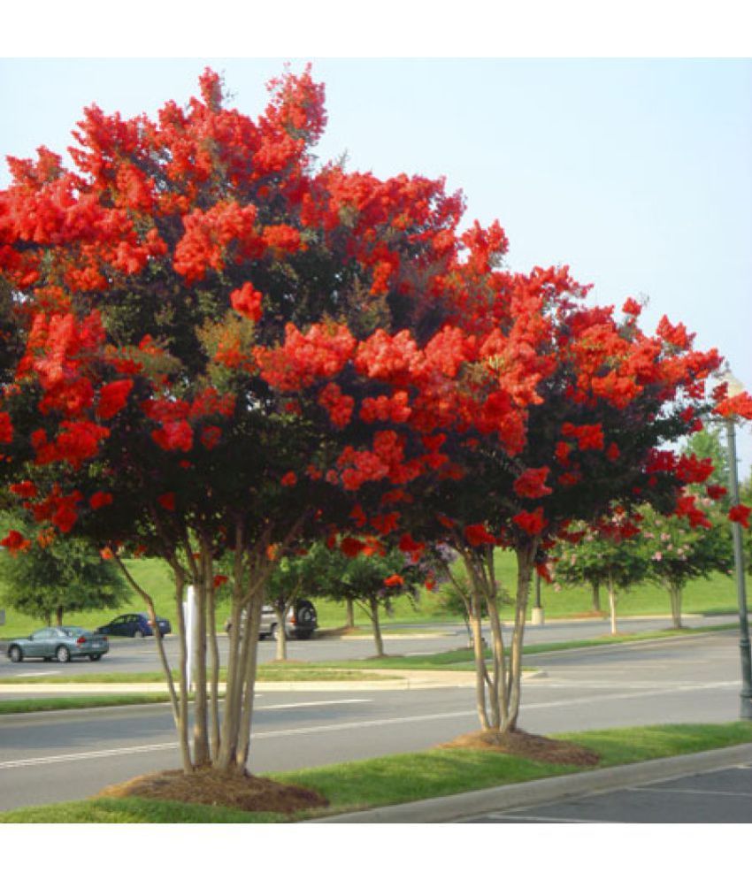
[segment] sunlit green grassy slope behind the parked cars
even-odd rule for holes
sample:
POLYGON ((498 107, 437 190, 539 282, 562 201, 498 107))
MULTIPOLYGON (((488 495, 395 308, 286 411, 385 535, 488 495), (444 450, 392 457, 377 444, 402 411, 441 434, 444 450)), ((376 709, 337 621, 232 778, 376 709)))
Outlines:
MULTIPOLYGON (((514 556, 509 551, 498 550, 496 553, 497 572, 502 585, 508 586, 514 593, 517 582, 514 556)), ((170 571, 164 562, 158 559, 127 560, 131 571, 139 584, 142 584, 154 597, 157 614, 167 617, 174 624, 175 603, 174 585, 170 571)), ((0 582, 0 595, 4 584, 0 582)), ((591 613, 591 595, 589 588, 572 587, 556 592, 553 586, 541 585, 541 600, 546 610, 547 619, 574 617, 591 613)), ((344 625, 344 605, 325 599, 314 599, 318 611, 318 625, 322 629, 334 629, 344 625)), ((605 603, 605 596, 602 597, 605 603)), ((0 602, 2 604, 2 602, 0 602)), ((603 605, 605 608, 605 604, 603 605)), ((724 614, 733 613, 737 608, 736 587, 733 578, 720 573, 710 578, 698 578, 690 582, 684 590, 683 610, 686 614, 724 614)), ((77 624, 96 629, 119 614, 128 611, 144 611, 143 602, 134 594, 133 600, 120 608, 102 611, 88 611, 72 615, 65 623, 77 624)), ((661 587, 651 584, 635 585, 629 592, 623 593, 618 601, 619 616, 668 615, 670 613, 668 593, 661 587)), ((503 616, 511 617, 511 608, 503 609, 503 616)), ((219 597, 217 620, 222 626, 229 616, 229 601, 219 597)), ((12 608, 6 608, 6 625, 0 628, 0 639, 7 640, 17 636, 27 636, 29 632, 40 629, 44 624, 39 619, 21 615, 12 608)), ((355 609, 355 623, 370 631, 367 615, 361 608, 355 609)), ((393 613, 386 617, 385 624, 439 624, 462 622, 457 616, 446 614, 441 608, 438 593, 424 591, 418 603, 413 606, 407 596, 398 597, 394 602, 393 613)))

